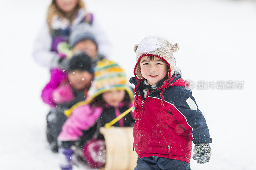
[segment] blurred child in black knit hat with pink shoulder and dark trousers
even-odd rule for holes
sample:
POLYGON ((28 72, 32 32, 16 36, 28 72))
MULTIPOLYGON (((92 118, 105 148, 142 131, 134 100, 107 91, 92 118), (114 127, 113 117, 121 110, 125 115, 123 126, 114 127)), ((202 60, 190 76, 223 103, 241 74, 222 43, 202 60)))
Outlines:
POLYGON ((47 115, 47 140, 53 152, 58 152, 57 137, 67 117, 63 111, 85 100, 93 79, 90 57, 78 53, 68 61, 68 81, 54 89, 51 99, 56 105, 47 115))

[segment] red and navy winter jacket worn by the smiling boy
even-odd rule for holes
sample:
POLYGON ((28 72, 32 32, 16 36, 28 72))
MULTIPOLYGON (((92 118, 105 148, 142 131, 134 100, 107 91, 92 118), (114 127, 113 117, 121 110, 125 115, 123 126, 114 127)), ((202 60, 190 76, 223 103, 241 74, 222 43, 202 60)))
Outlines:
MULTIPOLYGON (((130 82, 137 85, 135 77, 130 82)), ((140 158, 160 156, 190 163, 192 140, 195 144, 212 142, 204 116, 185 83, 180 75, 171 78, 163 92, 164 107, 160 97, 162 86, 144 98, 139 85, 133 137, 140 158)))

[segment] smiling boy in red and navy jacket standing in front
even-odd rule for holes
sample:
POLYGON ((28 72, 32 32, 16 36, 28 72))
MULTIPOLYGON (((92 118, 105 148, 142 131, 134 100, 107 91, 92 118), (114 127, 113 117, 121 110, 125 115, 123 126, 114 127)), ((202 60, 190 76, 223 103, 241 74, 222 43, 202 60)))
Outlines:
POLYGON ((189 83, 174 72, 173 52, 178 50, 179 44, 161 36, 148 36, 134 47, 135 170, 189 170, 191 141, 193 159, 201 164, 210 160, 212 138, 204 116, 189 83))

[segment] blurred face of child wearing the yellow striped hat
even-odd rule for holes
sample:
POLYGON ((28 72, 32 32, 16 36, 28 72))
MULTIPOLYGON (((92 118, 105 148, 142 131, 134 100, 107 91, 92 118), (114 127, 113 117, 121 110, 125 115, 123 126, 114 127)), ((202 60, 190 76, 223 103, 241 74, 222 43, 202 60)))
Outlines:
POLYGON ((111 90, 102 94, 103 100, 110 106, 117 107, 124 100, 125 90, 111 90))

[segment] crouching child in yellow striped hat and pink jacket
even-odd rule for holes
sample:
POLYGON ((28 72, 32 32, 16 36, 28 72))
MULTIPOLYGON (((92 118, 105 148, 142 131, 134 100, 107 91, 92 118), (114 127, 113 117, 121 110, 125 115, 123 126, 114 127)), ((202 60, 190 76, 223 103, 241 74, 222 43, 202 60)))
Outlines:
MULTIPOLYGON (((91 167, 105 165, 106 150, 104 137, 99 133, 99 127, 104 126, 125 110, 132 107, 133 92, 126 85, 126 76, 122 68, 115 62, 102 60, 95 67, 95 78, 88 91, 89 96, 84 105, 72 107, 66 112, 67 121, 58 137, 60 154, 65 155, 61 169, 72 169, 71 148, 78 145, 83 148, 83 156, 91 167), (74 109, 75 108, 75 109, 74 109), (90 140, 88 142, 88 140, 90 140), (84 145, 87 141, 87 144, 84 145)), ((77 105, 81 105, 78 103, 77 105)), ((113 126, 133 126, 134 118, 127 114, 113 126)))

